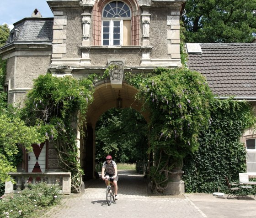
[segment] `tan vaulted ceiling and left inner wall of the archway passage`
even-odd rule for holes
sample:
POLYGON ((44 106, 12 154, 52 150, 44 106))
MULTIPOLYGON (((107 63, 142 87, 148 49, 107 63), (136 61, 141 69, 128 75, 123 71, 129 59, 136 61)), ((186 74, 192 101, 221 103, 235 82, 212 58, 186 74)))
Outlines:
MULTIPOLYGON (((107 110, 116 107, 117 98, 123 99, 123 108, 133 108, 140 111, 142 103, 135 99, 138 90, 123 82, 122 88, 112 88, 110 81, 97 83, 94 93, 94 102, 89 106, 86 114, 86 138, 80 138, 80 164, 85 171, 84 179, 95 178, 95 127, 99 117, 107 110)), ((149 122, 149 114, 142 112, 143 117, 149 122)))

